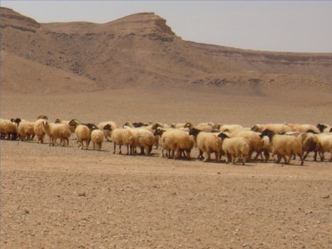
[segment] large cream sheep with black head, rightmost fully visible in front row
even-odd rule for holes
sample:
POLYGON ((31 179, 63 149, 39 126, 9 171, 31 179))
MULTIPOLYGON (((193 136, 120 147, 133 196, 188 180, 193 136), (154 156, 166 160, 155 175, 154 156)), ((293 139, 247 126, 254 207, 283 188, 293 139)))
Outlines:
MULTIPOLYGON (((293 155, 299 156, 301 160, 301 165, 303 165, 303 157, 302 157, 302 144, 299 138, 295 136, 286 136, 275 134, 275 132, 266 129, 261 135, 261 138, 267 136, 268 138, 264 138, 266 145, 264 146, 268 149, 272 155, 277 155, 276 163, 280 163, 280 160, 283 158, 286 164, 289 164, 293 155), (288 159, 287 159, 288 156, 288 159)), ((268 156, 266 157, 266 161, 268 160, 268 156)))

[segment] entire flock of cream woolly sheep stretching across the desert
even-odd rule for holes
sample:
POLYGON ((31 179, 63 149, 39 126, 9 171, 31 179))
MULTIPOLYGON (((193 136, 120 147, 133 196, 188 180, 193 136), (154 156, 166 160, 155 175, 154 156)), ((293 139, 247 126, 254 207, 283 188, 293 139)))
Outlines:
POLYGON ((167 158, 190 159, 194 147, 199 149, 199 160, 208 161, 211 154, 218 162, 225 156, 226 163, 237 163, 240 159, 244 165, 247 161, 268 161, 270 155, 276 156, 276 163, 283 159, 290 163, 295 156, 304 160, 310 152, 313 160, 324 160, 324 154, 330 153, 332 161, 332 128, 328 124, 256 124, 251 128, 239 124, 214 124, 212 122, 194 125, 191 122, 162 124, 160 122, 145 124, 126 122, 119 128, 116 122, 101 122, 98 125, 83 124, 77 120, 64 121, 59 118, 48 122, 47 116, 39 116, 37 121, 28 122, 21 118, 0 120, 1 139, 30 141, 37 137, 37 142, 49 138, 49 145, 68 146, 69 138, 75 133, 78 147, 88 149, 92 142, 93 149, 100 150, 106 139, 113 142, 122 154, 121 146, 127 147, 127 154, 149 155, 154 146, 161 147, 161 155, 167 158), (85 144, 85 145, 84 145, 85 144), (253 154, 255 153, 255 158, 253 154))

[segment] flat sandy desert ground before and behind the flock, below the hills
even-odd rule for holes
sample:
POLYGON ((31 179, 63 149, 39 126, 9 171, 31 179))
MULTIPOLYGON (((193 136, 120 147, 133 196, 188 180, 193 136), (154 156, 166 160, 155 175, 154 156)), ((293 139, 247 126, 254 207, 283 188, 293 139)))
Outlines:
MULTIPOLYGON (((321 98, 125 89, 2 93, 1 116, 331 123, 321 98)), ((46 141, 48 139, 46 138, 46 141)), ((124 149, 125 151, 125 149, 124 149)), ((194 155, 197 151, 194 151, 194 155)), ((331 248, 332 164, 227 165, 1 140, 1 248, 331 248)))

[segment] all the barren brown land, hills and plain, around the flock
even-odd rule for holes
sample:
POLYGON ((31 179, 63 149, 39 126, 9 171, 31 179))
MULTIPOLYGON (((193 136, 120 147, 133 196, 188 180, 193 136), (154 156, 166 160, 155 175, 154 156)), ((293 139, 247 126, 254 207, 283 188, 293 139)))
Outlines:
MULTIPOLYGON (((331 68, 331 53, 186 42, 152 13, 38 24, 1 8, 1 118, 332 124, 331 68)), ((1 140, 1 248, 332 247, 327 160, 242 166, 69 145, 1 140)))

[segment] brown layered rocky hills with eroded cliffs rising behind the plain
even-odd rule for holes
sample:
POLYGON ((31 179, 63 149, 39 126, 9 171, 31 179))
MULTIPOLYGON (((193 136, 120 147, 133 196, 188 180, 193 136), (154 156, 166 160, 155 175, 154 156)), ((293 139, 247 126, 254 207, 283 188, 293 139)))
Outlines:
POLYGON ((106 24, 39 24, 8 8, 1 8, 0 14, 1 50, 6 58, 20 58, 14 67, 14 59, 2 60, 7 63, 1 68, 1 79, 7 82, 2 89, 24 81, 15 79, 21 66, 31 67, 30 85, 42 79, 39 74, 33 80, 37 66, 44 74, 52 68, 62 72, 55 75, 77 76, 77 82, 84 78, 89 82, 86 91, 204 86, 235 91, 247 87, 250 94, 266 95, 270 86, 332 89, 332 53, 274 53, 187 42, 153 12, 106 24), (17 73, 10 78, 9 69, 3 68, 11 67, 17 73))

